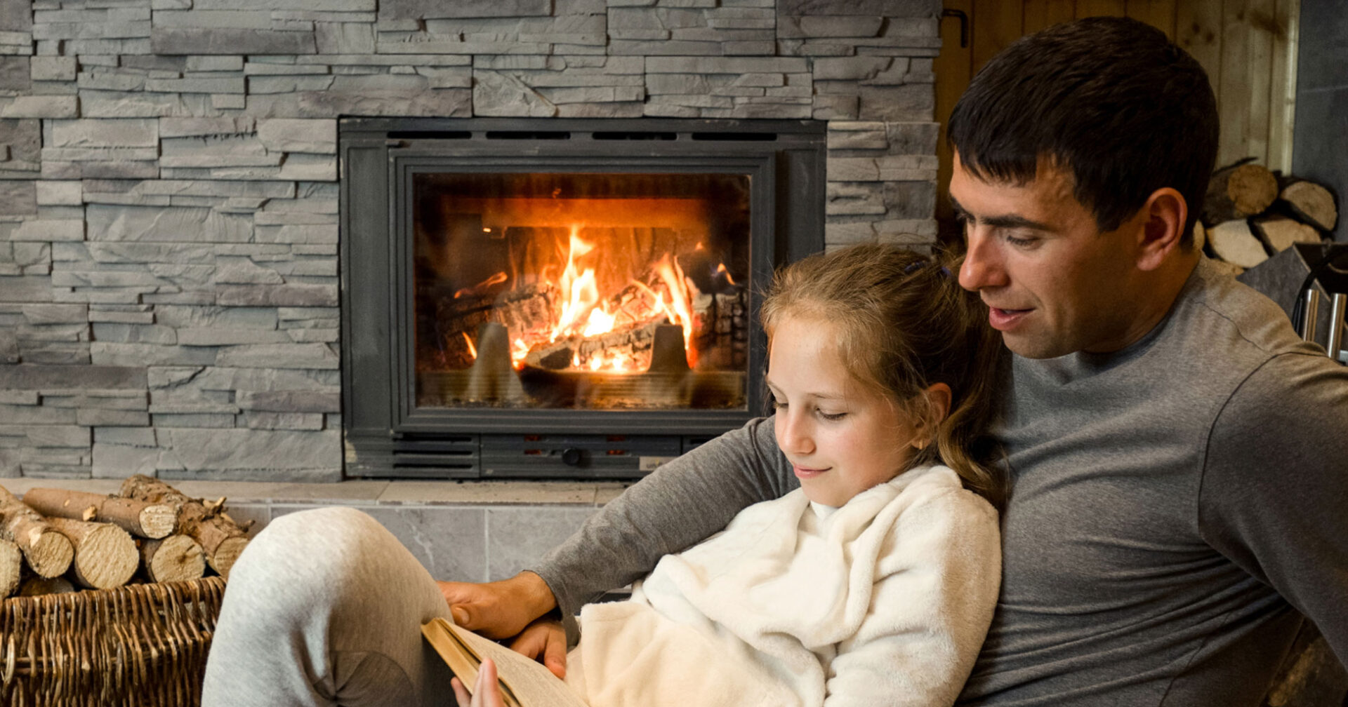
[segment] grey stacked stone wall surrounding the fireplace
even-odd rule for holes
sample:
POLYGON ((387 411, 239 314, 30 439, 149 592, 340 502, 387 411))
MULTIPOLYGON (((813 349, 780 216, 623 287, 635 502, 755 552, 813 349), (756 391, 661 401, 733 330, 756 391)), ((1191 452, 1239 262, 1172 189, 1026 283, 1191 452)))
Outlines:
POLYGON ((5 0, 0 477, 341 477, 338 116, 813 119, 934 238, 936 0, 5 0))

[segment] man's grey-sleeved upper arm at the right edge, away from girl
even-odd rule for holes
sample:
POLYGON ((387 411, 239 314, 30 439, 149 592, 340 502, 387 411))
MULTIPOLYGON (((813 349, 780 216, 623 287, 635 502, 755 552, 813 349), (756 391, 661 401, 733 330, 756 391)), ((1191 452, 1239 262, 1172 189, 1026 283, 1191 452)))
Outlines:
POLYGON ((1213 427, 1204 533, 1271 584, 1348 664, 1348 368, 1283 354, 1255 370, 1213 427))

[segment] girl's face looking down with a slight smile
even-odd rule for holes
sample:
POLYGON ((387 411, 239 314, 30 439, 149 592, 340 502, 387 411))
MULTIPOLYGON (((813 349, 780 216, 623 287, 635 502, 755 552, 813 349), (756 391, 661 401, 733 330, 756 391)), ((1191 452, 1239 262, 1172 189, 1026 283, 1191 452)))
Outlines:
POLYGON ((810 501, 841 506, 907 469, 917 420, 879 391, 864 389, 834 345, 837 327, 787 315, 772 333, 767 385, 776 444, 810 501))

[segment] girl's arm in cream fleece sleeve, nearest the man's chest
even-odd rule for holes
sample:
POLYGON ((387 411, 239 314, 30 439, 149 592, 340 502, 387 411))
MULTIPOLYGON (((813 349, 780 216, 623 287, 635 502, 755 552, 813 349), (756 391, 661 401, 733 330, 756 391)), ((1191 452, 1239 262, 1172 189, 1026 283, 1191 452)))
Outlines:
POLYGON ((992 622, 1002 574, 996 512, 950 489, 903 512, 871 613, 838 644, 825 707, 953 704, 992 622))

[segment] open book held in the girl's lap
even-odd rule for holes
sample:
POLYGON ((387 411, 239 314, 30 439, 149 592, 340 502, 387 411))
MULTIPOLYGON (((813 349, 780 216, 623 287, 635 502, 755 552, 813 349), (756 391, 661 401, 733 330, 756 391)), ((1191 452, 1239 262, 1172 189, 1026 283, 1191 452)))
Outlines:
POLYGON ((507 707, 586 707, 585 702, 541 663, 535 663, 489 638, 461 629, 443 618, 422 625, 422 636, 445 659, 469 692, 477 684, 483 659, 496 663, 496 676, 507 707))

